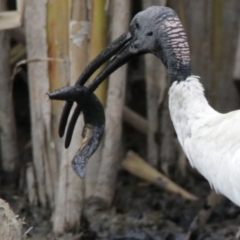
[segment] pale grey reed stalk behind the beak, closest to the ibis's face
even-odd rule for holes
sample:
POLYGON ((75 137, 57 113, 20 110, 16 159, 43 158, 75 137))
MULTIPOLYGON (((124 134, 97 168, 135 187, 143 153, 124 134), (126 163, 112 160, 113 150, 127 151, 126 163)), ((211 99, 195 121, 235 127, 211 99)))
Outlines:
MULTIPOLYGON (((128 28, 130 2, 114 0, 112 14, 112 40, 128 28)), ((100 198, 106 207, 111 206, 119 160, 121 157, 122 109, 125 99, 127 78, 126 65, 115 71, 109 78, 106 107, 106 131, 103 144, 102 161, 94 197, 100 198)))

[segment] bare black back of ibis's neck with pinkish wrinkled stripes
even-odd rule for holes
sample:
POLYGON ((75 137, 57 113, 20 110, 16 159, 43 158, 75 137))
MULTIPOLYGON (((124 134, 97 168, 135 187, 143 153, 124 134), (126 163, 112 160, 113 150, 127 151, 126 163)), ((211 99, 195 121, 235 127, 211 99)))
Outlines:
POLYGON ((161 52, 158 57, 168 69, 170 84, 185 81, 191 75, 190 51, 187 37, 179 19, 166 19, 161 29, 161 52))

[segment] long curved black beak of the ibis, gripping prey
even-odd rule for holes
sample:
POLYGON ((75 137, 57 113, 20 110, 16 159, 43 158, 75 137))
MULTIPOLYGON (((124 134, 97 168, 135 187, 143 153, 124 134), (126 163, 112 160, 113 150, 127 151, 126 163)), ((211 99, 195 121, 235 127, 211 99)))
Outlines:
MULTIPOLYGON (((102 70, 102 72, 99 73, 99 75, 93 80, 93 82, 89 85, 87 91, 86 91, 86 97, 91 95, 94 90, 101 84, 104 79, 106 79, 112 72, 114 72, 116 69, 118 69, 120 66, 127 63, 129 60, 134 58, 135 56, 138 56, 140 54, 143 54, 144 52, 131 52, 131 41, 132 36, 129 32, 124 33, 121 35, 118 39, 116 39, 112 44, 110 44, 104 51, 102 51, 83 71, 81 76, 79 77, 78 81, 76 82, 76 85, 84 85, 88 78, 107 60, 109 60, 111 57, 111 61, 108 63, 108 65, 102 70)), ((62 117, 60 120, 59 125, 59 136, 62 137, 65 132, 67 119, 70 113, 70 110, 72 108, 73 102, 68 99, 67 103, 64 106, 62 117)), ((84 104, 82 102, 82 104, 84 104)), ((78 104, 76 109, 74 110, 74 113, 72 115, 72 118, 68 125, 68 131, 66 134, 66 140, 65 140, 65 147, 68 148, 71 142, 72 134, 74 131, 75 124, 77 122, 77 119, 82 111, 82 104, 78 104)))

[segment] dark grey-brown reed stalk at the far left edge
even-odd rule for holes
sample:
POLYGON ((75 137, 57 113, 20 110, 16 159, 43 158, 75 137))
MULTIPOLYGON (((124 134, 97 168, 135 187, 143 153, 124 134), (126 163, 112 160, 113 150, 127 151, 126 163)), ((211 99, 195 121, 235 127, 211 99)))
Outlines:
MULTIPOLYGON (((0 1, 0 11, 5 8, 5 1, 0 1)), ((17 170, 19 163, 19 153, 10 85, 10 41, 6 31, 0 31, 0 52, 0 142, 2 167, 4 171, 14 172, 17 170)))

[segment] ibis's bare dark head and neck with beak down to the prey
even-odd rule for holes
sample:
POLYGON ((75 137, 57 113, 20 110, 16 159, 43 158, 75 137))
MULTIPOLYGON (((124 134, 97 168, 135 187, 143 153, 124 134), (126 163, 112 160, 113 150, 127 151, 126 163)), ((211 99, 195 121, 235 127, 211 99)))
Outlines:
POLYGON ((89 86, 93 92, 112 72, 132 58, 152 53, 167 67, 171 83, 191 75, 187 37, 177 14, 170 8, 153 6, 139 12, 129 31, 110 44, 83 72, 79 82, 100 65, 114 58, 89 86))

